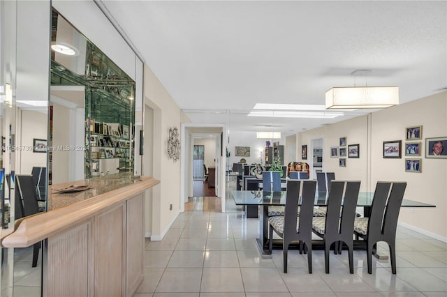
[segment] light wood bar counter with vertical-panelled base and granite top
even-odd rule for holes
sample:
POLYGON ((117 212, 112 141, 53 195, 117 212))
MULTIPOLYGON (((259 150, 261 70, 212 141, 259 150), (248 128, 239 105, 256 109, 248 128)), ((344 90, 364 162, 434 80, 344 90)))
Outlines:
POLYGON ((50 186, 46 213, 19 220, 6 248, 46 239, 43 296, 133 296, 144 276, 145 190, 154 178, 104 176, 50 186), (55 189, 88 185, 82 192, 55 189))

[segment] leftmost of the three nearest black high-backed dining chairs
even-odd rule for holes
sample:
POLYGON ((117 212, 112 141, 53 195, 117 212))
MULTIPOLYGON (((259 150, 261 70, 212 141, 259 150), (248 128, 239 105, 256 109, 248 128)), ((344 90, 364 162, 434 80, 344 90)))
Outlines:
POLYGON ((288 245, 292 241, 300 241, 300 251, 307 250, 307 266, 312 273, 312 218, 314 210, 316 181, 292 180, 287 183, 286 206, 284 216, 268 218, 270 241, 269 250, 273 248, 273 231, 283 239, 284 273, 287 273, 288 245), (302 188, 300 215, 298 200, 302 188))

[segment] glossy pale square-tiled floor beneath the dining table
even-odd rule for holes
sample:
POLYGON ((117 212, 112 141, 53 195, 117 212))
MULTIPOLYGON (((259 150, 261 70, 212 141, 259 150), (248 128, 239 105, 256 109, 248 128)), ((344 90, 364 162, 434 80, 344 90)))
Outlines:
MULTIPOLYGON (((374 259, 367 273, 366 252, 354 252, 355 273, 348 256, 330 254, 330 274, 324 271, 323 251, 307 257, 291 250, 288 273, 282 251, 262 259, 254 238, 258 219, 247 219, 229 201, 228 213, 205 209, 215 197, 190 199, 162 241, 147 241, 145 279, 134 297, 149 296, 447 296, 447 243, 399 227, 397 275, 389 260, 374 259)), ((215 203, 219 204, 219 203, 215 203)), ((384 245, 380 246, 384 253, 384 245)))

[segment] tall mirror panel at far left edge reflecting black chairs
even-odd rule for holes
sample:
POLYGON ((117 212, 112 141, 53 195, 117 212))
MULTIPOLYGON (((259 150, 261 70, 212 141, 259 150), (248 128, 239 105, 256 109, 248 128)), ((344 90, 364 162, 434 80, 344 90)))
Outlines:
MULTIPOLYGON (((1 238, 45 211, 45 172, 34 167, 47 167, 49 12, 49 1, 0 2, 1 238)), ((41 296, 41 261, 40 243, 2 249, 1 296, 41 296)))

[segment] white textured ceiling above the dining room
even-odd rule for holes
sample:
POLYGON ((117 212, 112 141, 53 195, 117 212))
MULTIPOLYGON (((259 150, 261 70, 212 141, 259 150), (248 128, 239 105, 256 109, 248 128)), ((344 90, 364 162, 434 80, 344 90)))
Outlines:
POLYGON ((446 1, 102 3, 193 123, 290 135, 372 110, 247 113, 257 102, 324 105, 332 86, 399 86, 401 103, 447 86, 446 1), (359 69, 371 72, 351 75, 359 69))

